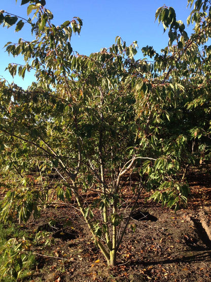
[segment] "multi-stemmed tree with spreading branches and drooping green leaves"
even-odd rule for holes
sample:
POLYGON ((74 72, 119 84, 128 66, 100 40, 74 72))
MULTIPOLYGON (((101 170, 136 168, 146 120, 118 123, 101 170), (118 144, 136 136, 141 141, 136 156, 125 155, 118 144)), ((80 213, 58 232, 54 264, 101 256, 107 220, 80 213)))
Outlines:
POLYGON ((81 19, 55 26, 45 1, 26 4, 32 19, 0 12, 3 26, 18 32, 27 23, 34 36, 6 44, 25 60, 8 70, 24 78, 34 69, 37 78, 27 90, 0 81, 1 186, 8 191, 1 217, 37 216, 52 191, 76 200, 94 242, 115 265, 142 190, 178 209, 189 193, 185 171, 210 159, 210 2, 188 1, 191 36, 173 8, 159 8, 168 46, 160 53, 146 46, 147 58, 138 60, 137 42, 127 46, 120 37, 90 56, 74 52, 71 36, 80 33, 81 19), (132 200, 125 199, 122 177, 134 171, 139 180, 132 200), (97 194, 92 203, 90 192, 97 194))

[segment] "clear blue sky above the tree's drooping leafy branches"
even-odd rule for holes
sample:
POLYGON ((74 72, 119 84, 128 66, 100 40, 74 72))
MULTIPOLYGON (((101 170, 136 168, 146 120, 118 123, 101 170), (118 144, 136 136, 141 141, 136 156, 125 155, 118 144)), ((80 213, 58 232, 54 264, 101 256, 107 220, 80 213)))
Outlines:
MULTIPOLYGON (((0 0, 0 10, 27 17, 27 4, 20 6, 21 0, 0 0)), ((142 47, 149 45, 159 52, 161 48, 167 46, 167 32, 163 34, 162 24, 155 22, 156 10, 163 6, 170 6, 175 9, 177 19, 184 21, 190 14, 186 0, 46 0, 46 8, 54 15, 53 23, 59 25, 65 20, 71 20, 74 16, 83 19, 83 27, 80 37, 72 38, 72 47, 81 54, 89 55, 97 52, 103 47, 110 47, 115 43, 116 36, 121 36, 126 44, 133 41, 138 42, 139 52, 137 58, 141 58, 142 47)), ((9 72, 5 68, 9 62, 21 64, 21 58, 14 59, 8 56, 3 49, 8 41, 17 42, 19 38, 32 40, 28 28, 23 27, 21 32, 15 33, 15 28, 3 28, 0 26, 0 75, 9 82, 13 81, 9 72)), ((191 31, 190 31, 191 32, 191 31)), ((18 76, 14 82, 26 88, 34 80, 33 74, 25 75, 24 81, 18 76)))

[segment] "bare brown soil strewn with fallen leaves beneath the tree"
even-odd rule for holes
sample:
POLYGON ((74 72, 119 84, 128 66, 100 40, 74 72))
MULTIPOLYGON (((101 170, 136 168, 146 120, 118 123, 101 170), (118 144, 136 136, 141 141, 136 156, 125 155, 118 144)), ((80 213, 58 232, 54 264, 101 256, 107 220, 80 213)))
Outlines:
POLYGON ((154 202, 140 203, 119 251, 118 265, 108 267, 87 235, 86 225, 68 205, 48 207, 34 232, 52 232, 51 246, 37 247, 33 281, 211 281, 211 176, 189 175, 188 208, 177 213, 154 202), (55 222, 54 229, 49 221, 55 222), (67 223, 70 223, 69 226, 67 223))

